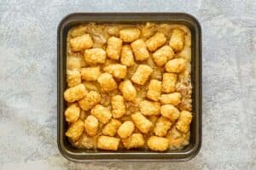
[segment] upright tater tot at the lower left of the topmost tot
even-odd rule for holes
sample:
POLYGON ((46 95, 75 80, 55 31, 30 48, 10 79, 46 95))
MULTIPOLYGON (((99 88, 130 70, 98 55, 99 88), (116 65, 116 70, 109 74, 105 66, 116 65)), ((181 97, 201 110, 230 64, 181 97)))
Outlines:
POLYGON ((118 37, 108 38, 107 55, 110 59, 119 59, 123 41, 118 37))

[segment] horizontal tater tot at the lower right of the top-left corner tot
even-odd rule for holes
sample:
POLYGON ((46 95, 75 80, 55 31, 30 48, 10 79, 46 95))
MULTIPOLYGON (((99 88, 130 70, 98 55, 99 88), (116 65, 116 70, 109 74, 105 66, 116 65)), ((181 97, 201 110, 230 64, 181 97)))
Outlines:
POLYGON ((84 51, 84 60, 89 65, 104 64, 106 52, 102 48, 90 48, 84 51))

